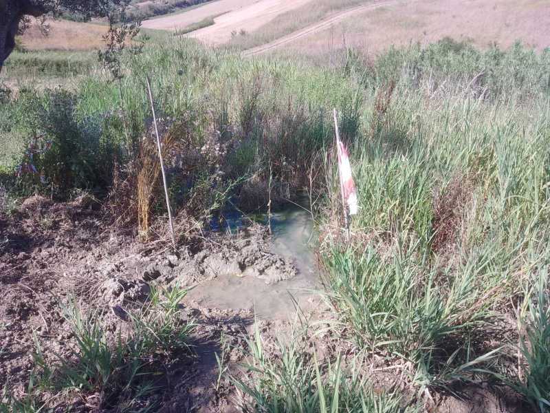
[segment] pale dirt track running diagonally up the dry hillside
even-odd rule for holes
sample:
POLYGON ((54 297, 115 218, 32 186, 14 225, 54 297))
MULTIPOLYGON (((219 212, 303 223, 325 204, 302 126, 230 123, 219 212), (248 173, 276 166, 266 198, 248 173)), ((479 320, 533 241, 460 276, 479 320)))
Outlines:
POLYGON ((358 6, 355 8, 351 8, 349 10, 344 10, 343 12, 333 14, 331 17, 327 17, 327 19, 323 19, 319 23, 309 25, 307 28, 303 28, 302 30, 298 30, 297 32, 288 34, 287 36, 283 36, 280 39, 274 40, 270 43, 266 43, 265 45, 261 45, 249 50, 245 50, 244 52, 242 52, 241 56, 249 57, 254 54, 265 53, 268 50, 272 50, 272 49, 275 49, 276 47, 287 45, 288 43, 292 43, 293 41, 301 39, 304 36, 308 36, 309 34, 320 32, 321 30, 325 30, 326 28, 329 28, 331 25, 338 23, 344 19, 347 19, 348 17, 353 16, 353 14, 364 12, 365 10, 370 10, 381 6, 388 6, 395 3, 397 3, 396 0, 380 1, 378 3, 367 4, 365 6, 358 6))

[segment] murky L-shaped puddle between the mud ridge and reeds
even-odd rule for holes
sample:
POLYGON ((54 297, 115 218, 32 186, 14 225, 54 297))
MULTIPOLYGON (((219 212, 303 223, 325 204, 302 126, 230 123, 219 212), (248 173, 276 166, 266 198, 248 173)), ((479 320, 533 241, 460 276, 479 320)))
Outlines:
MULTIPOLYGON (((205 307, 253 308, 258 317, 270 318, 294 314, 292 297, 300 307, 307 306, 307 299, 312 290, 318 289, 319 282, 314 222, 309 212, 299 207, 272 214, 271 222, 271 252, 292 260, 298 269, 296 277, 268 285, 255 277, 219 276, 191 290, 188 299, 205 307)), ((234 229, 235 221, 228 225, 234 229)))

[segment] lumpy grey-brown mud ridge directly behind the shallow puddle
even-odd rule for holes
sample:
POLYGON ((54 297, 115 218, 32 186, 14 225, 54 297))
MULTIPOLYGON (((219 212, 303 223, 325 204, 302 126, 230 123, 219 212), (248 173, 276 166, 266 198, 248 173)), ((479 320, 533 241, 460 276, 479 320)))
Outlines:
POLYGON ((111 304, 122 304, 129 295, 140 299, 149 282, 190 288, 216 277, 256 277, 274 284, 297 273, 292 262, 269 251, 269 239, 259 228, 238 237, 213 235, 199 252, 184 249, 178 255, 137 253, 122 255, 118 261, 109 257, 86 271, 90 278, 102 275, 102 296, 109 297, 111 304))

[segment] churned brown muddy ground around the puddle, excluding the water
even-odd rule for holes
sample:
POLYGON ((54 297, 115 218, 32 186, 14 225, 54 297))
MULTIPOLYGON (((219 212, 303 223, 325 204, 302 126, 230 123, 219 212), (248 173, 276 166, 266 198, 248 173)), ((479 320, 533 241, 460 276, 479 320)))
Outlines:
MULTIPOLYGON (((56 354, 70 354, 72 334, 61 313, 67 302, 99 309, 102 323, 116 330, 126 322, 124 308, 146 301, 152 285, 190 288, 219 277, 239 277, 275 286, 296 275, 292 260, 270 251, 270 237, 261 226, 231 236, 204 235, 174 253, 163 242, 143 243, 133 231, 111 229, 102 212, 85 199, 52 204, 31 198, 13 215, 0 216, 0 384, 8 382, 14 394, 25 392, 36 341, 47 361, 54 361, 56 354)), ((193 354, 166 363, 160 412, 239 412, 241 394, 227 378, 219 381, 214 354, 223 357, 232 374, 244 374, 239 348, 245 348, 255 321, 267 343, 294 325, 295 317, 280 314, 257 319, 250 303, 217 308, 204 298, 184 300, 186 314, 197 324, 193 354), (224 352, 222 335, 229 349, 224 352)), ((309 295, 302 304, 307 319, 333 319, 318 295, 309 295)), ((353 353, 349 343, 329 330, 314 340, 316 351, 325 357, 353 353)), ((374 358, 369 374, 377 388, 397 390, 415 400, 406 381, 393 374, 391 361, 374 358)), ((529 412, 509 389, 484 384, 457 390, 459 397, 437 395, 423 411, 529 412)), ((101 411, 86 397, 58 411, 101 411)))

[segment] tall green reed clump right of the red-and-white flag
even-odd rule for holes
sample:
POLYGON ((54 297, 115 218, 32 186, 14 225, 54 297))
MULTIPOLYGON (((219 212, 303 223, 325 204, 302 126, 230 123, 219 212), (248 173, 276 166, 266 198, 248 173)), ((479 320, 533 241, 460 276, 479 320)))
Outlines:
MULTIPOLYGON (((550 257, 547 54, 443 41, 415 69, 414 50, 390 50, 360 75, 373 87, 368 134, 351 144, 360 211, 347 244, 331 175, 321 248, 327 297, 355 345, 395 357, 420 392, 452 391, 501 368, 518 374, 518 332, 503 320, 533 299, 550 257), (521 75, 506 74, 511 65, 521 75), (395 89, 381 116, 386 78, 395 89)), ((538 375, 536 365, 528 370, 538 375)))

